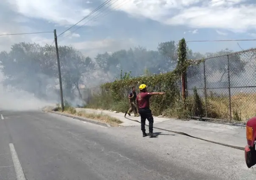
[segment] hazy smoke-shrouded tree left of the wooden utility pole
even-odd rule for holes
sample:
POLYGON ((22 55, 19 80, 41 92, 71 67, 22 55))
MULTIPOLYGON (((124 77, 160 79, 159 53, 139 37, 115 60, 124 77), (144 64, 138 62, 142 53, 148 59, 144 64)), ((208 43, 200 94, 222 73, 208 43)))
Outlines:
POLYGON ((0 53, 0 63, 4 85, 21 88, 38 98, 45 96, 45 78, 50 78, 54 66, 47 61, 42 46, 25 42, 14 44, 9 53, 0 53))

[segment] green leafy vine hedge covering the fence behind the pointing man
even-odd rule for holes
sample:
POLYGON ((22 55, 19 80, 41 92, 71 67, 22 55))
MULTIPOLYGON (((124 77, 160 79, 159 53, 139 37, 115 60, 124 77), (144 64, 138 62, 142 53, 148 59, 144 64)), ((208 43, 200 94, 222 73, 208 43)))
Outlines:
POLYGON ((179 42, 177 53, 177 67, 172 72, 134 78, 130 78, 130 74, 125 77, 121 75, 120 79, 101 85, 102 94, 97 97, 100 101, 97 104, 101 104, 103 109, 111 109, 117 105, 120 107, 120 103, 123 102, 125 107, 113 110, 125 111, 125 108, 128 108, 127 95, 131 91, 131 87, 135 86, 138 89, 140 84, 146 84, 149 91, 165 92, 164 96, 156 96, 150 99, 150 106, 154 115, 160 115, 164 110, 173 108, 180 100, 179 80, 181 75, 186 73, 187 68, 192 63, 192 60, 186 59, 186 41, 184 38, 179 42))

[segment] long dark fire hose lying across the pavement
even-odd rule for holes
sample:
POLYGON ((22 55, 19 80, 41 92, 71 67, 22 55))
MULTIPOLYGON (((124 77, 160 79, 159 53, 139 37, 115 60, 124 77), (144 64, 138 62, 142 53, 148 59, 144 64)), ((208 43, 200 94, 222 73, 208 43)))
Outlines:
MULTIPOLYGON (((126 115, 126 113, 125 113, 125 115, 126 115)), ((128 120, 137 122, 137 123, 141 123, 141 122, 139 122, 138 120, 132 120, 132 119, 126 117, 126 116, 125 116, 125 118, 128 119, 128 120)), ((147 124, 145 124, 145 125, 148 126, 147 124)), ((224 144, 224 143, 215 142, 215 141, 211 141, 211 140, 208 140, 208 139, 203 139, 203 138, 200 138, 200 137, 191 136, 191 135, 186 134, 186 133, 181 132, 181 131, 172 131, 172 130, 168 130, 168 129, 164 129, 164 128, 157 128, 157 127, 155 127, 155 126, 154 126, 154 128, 155 128, 155 129, 162 130, 162 131, 172 132, 172 133, 175 133, 175 134, 181 134, 181 135, 184 135, 184 136, 189 136, 189 137, 192 137, 192 138, 195 138, 195 139, 200 139, 200 140, 202 140, 202 141, 211 142, 211 143, 214 143, 214 144, 217 144, 217 145, 222 145, 222 146, 226 146, 226 147, 231 147, 231 148, 238 149, 238 150, 245 150, 244 147, 233 146, 233 145, 227 145, 227 144, 224 144)))

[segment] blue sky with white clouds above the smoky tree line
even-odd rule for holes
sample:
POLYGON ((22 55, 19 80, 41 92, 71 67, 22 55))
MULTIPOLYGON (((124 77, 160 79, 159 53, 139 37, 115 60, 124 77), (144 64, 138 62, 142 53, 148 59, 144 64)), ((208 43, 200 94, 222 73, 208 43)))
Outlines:
MULTIPOLYGON (((57 35, 90 14, 105 0, 1 0, 0 34, 53 32, 57 35)), ((254 0, 111 0, 91 16, 58 37, 83 54, 160 42, 256 39, 254 0), (85 25, 84 25, 85 24, 85 25), (80 27, 83 25, 82 27, 80 27), (78 29, 78 27, 80 27, 78 29)), ((21 41, 52 44, 53 33, 0 36, 0 51, 21 41)), ((256 41, 188 42, 193 52, 221 49, 241 51, 256 41)))

